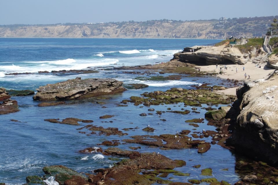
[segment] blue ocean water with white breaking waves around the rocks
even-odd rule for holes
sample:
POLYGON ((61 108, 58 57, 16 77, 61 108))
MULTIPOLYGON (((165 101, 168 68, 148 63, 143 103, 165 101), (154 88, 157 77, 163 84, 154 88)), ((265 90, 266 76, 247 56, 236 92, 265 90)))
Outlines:
MULTIPOLYGON (((67 79, 84 78, 115 78, 124 84, 144 83, 149 87, 143 90, 127 90, 121 94, 105 96, 103 105, 97 104, 97 98, 82 101, 71 101, 71 104, 38 107, 39 101, 33 101, 32 96, 12 97, 18 101, 20 111, 8 115, 1 115, 0 129, 0 182, 6 184, 24 184, 28 175, 43 175, 42 167, 47 165, 64 165, 78 172, 91 172, 96 168, 111 167, 114 161, 100 153, 81 154, 78 150, 87 147, 102 147, 97 144, 105 140, 122 140, 132 135, 160 135, 175 134, 176 131, 192 130, 200 132, 214 130, 215 127, 207 126, 206 121, 199 124, 196 130, 184 121, 193 118, 203 118, 204 109, 197 107, 200 114, 179 115, 163 113, 158 115, 139 116, 148 113, 149 107, 139 107, 128 104, 127 107, 117 107, 123 99, 131 96, 140 96, 143 92, 154 90, 167 90, 173 87, 191 88, 191 85, 204 82, 218 85, 220 80, 216 77, 182 77, 181 80, 172 81, 140 81, 135 78, 142 75, 122 73, 118 70, 103 70, 119 66, 135 66, 167 62, 176 52, 184 47, 206 45, 219 40, 205 39, 69 39, 69 38, 0 38, 0 86, 6 89, 35 90, 39 86, 52 84, 67 79), (38 71, 95 69, 98 73, 78 75, 52 75, 39 74, 38 71), (32 74, 7 75, 9 73, 32 74), (114 117, 105 121, 100 116, 109 114, 114 117), (75 117, 94 120, 97 126, 139 129, 123 131, 126 136, 86 135, 79 133, 77 128, 64 124, 53 124, 44 119, 65 119, 75 117), (16 119, 19 122, 10 121, 16 119), (161 121, 166 119, 167 121, 161 121), (113 121, 110 123, 109 121, 113 121), (146 133, 142 130, 150 124, 156 130, 146 133)), ((203 105, 206 106, 206 105, 203 105)), ((151 106, 155 110, 166 111, 167 108, 180 110, 183 104, 151 106)), ((215 107, 217 108, 217 107, 215 107)), ((188 107, 185 109, 189 109, 188 107)), ((211 138, 204 138, 211 141, 211 138)), ((231 184, 239 180, 235 173, 235 155, 229 150, 218 145, 198 154, 196 149, 160 150, 138 144, 119 145, 119 148, 129 149, 129 146, 140 146, 139 152, 160 152, 171 159, 182 159, 186 166, 176 168, 183 173, 190 173, 189 177, 173 177, 174 182, 188 182, 189 179, 206 178, 200 175, 201 169, 212 168, 213 177, 219 181, 225 180, 231 184), (201 168, 193 165, 201 164, 201 168), (228 171, 222 171, 228 168, 228 171)))

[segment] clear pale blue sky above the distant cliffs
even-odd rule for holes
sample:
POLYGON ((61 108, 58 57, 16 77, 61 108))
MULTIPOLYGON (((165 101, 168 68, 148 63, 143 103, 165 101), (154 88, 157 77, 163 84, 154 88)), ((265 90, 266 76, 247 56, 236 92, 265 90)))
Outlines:
POLYGON ((277 7, 278 0, 0 0, 0 25, 261 17, 278 15, 277 7))

